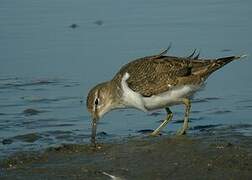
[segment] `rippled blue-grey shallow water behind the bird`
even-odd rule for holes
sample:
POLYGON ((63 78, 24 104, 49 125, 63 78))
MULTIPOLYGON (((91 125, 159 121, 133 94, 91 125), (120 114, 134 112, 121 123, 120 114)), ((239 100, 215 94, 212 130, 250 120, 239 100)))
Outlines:
MULTIPOLYGON (((60 143, 89 141, 85 98, 128 61, 172 42, 172 55, 194 48, 202 57, 252 54, 252 2, 2 1, 0 6, 0 155, 60 143)), ((192 105, 189 133, 239 126, 252 135, 251 57, 208 79, 192 105)), ((183 107, 173 107, 182 124, 183 107)), ((156 128, 164 111, 118 110, 99 124, 99 139, 113 140, 156 128)))

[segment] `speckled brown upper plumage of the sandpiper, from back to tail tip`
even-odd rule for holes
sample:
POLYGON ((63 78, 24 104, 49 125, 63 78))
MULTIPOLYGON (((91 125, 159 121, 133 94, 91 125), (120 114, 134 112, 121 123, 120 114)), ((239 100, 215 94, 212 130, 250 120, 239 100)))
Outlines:
POLYGON ((148 56, 124 65, 112 81, 119 84, 127 72, 130 74, 128 86, 133 91, 150 97, 177 86, 201 84, 212 72, 235 58, 230 56, 202 60, 164 55, 148 56))

